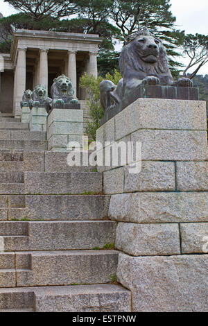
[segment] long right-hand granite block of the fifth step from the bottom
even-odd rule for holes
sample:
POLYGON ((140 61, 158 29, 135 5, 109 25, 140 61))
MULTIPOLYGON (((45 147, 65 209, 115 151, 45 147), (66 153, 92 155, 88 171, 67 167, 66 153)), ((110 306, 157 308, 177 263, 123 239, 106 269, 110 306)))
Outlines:
POLYGON ((84 194, 103 191, 102 173, 26 172, 26 194, 84 194))

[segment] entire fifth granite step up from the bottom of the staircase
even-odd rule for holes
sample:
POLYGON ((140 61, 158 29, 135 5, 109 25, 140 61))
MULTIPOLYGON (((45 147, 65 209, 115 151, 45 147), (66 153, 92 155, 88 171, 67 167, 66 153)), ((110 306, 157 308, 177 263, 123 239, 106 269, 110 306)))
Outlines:
POLYGON ((0 194, 101 194, 103 191, 103 174, 98 172, 26 172, 24 178, 22 173, 0 173, 0 182, 0 194))

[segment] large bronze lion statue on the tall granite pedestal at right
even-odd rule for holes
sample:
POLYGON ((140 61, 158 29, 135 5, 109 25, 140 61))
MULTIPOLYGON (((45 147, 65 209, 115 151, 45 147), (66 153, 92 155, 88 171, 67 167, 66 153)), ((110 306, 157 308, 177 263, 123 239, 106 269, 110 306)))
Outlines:
POLYGON ((103 80, 100 85, 103 110, 116 105, 122 105, 122 108, 128 106, 131 103, 131 93, 134 89, 137 91, 141 84, 193 86, 189 78, 180 78, 174 82, 168 67, 166 49, 148 28, 141 28, 125 40, 119 67, 123 78, 117 86, 110 80, 103 80))

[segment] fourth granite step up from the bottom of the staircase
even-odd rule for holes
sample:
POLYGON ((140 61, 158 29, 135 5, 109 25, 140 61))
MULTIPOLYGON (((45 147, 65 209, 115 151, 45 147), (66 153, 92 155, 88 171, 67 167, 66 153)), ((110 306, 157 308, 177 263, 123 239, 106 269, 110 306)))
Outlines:
POLYGON ((110 196, 104 195, 0 196, 0 220, 3 216, 29 221, 102 220, 107 218, 109 203, 110 196))

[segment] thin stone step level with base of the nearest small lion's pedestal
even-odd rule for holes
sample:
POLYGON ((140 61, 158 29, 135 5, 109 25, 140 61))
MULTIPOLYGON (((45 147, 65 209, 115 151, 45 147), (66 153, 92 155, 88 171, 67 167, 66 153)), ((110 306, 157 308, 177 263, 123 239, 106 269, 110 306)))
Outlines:
POLYGON ((48 141, 44 140, 0 140, 0 149, 5 151, 47 151, 48 141))

